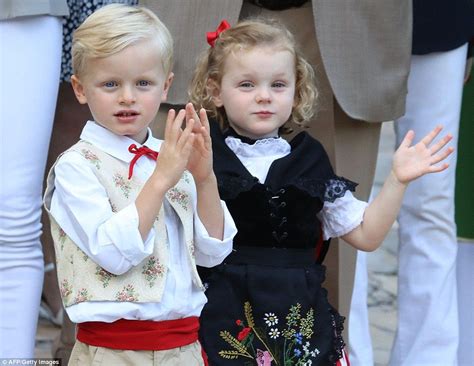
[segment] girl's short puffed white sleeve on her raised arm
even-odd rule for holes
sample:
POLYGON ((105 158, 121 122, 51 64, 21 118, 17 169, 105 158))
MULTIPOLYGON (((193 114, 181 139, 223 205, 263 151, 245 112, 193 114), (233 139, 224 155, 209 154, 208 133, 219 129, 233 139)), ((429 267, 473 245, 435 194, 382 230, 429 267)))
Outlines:
POLYGON ((334 202, 326 201, 318 218, 323 226, 323 239, 336 238, 354 230, 364 219, 368 203, 360 201, 346 191, 334 202))

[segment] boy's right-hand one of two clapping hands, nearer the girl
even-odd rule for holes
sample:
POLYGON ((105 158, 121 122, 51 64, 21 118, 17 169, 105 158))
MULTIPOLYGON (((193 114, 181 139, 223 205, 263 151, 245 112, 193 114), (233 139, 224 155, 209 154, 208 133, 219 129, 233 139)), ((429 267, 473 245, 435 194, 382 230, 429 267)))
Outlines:
POLYGON ((193 151, 189 157, 187 169, 194 177, 197 185, 212 176, 212 142, 209 120, 206 110, 201 108, 199 114, 191 103, 186 105, 186 122, 193 121, 195 135, 193 151))

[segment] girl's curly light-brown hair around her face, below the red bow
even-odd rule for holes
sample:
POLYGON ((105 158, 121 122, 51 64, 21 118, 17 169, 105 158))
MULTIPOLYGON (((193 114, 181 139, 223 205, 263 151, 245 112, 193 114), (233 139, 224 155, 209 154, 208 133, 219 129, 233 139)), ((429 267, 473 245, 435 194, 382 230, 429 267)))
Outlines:
MULTIPOLYGON (((224 107, 217 108, 212 101, 212 83, 221 85, 227 56, 261 46, 284 49, 294 55, 295 105, 288 122, 304 125, 315 112, 318 92, 314 85, 314 71, 296 47, 293 35, 275 20, 253 18, 241 21, 219 34, 214 47, 209 47, 200 56, 189 89, 189 97, 195 107, 205 108, 210 116, 217 118, 222 129, 228 127, 228 121, 224 107)), ((291 128, 285 124, 281 132, 290 130, 291 128)))

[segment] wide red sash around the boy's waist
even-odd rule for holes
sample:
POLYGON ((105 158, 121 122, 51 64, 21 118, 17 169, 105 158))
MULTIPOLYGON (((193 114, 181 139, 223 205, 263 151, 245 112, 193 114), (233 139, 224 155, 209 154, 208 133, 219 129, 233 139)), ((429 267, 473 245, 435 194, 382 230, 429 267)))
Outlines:
POLYGON ((77 325, 82 343, 121 350, 163 351, 198 340, 199 318, 176 320, 126 320, 113 323, 84 322, 77 325))

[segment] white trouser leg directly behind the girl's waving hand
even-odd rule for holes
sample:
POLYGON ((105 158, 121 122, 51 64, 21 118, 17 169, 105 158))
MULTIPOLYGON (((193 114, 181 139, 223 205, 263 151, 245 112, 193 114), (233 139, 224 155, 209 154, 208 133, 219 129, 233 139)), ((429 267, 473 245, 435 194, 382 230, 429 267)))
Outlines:
MULTIPOLYGON (((456 148, 467 45, 412 56, 406 114, 395 122, 397 146, 415 143, 436 125, 456 148)), ((459 342, 454 222, 456 153, 449 169, 407 188, 398 216, 398 327, 391 366, 457 365, 459 342)))

